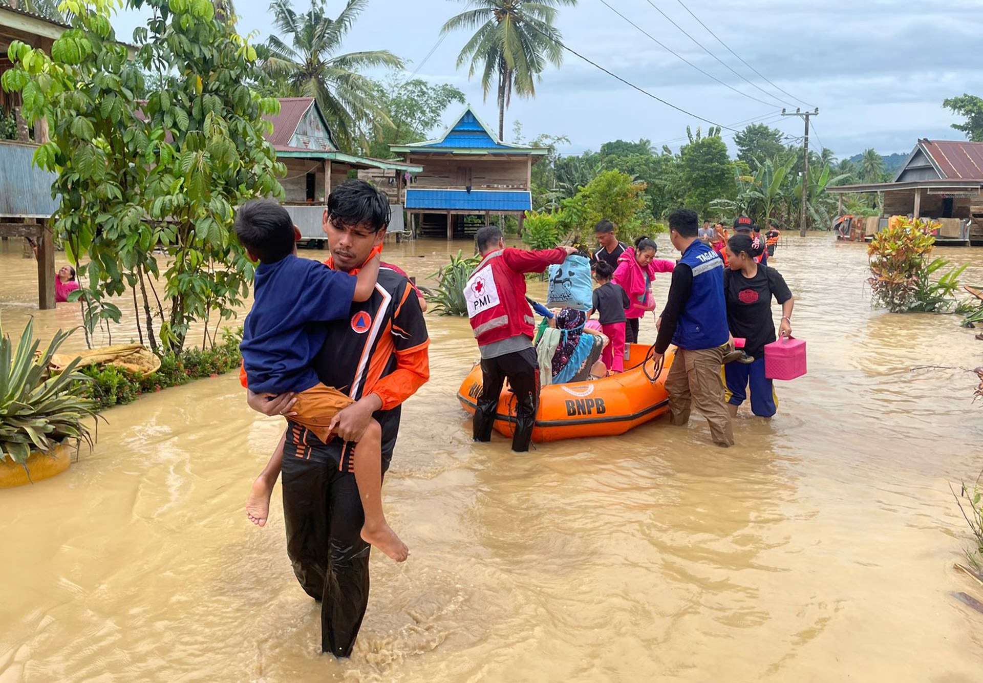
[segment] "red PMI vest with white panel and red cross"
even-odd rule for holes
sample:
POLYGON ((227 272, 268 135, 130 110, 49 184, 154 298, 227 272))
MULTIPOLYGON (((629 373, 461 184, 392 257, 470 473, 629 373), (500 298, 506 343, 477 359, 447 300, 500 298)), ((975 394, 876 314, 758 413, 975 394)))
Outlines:
POLYGON ((525 334, 532 339, 536 318, 526 303, 525 291, 516 291, 513 282, 521 273, 513 273, 501 258, 492 252, 482 259, 464 286, 468 317, 479 346, 525 334))

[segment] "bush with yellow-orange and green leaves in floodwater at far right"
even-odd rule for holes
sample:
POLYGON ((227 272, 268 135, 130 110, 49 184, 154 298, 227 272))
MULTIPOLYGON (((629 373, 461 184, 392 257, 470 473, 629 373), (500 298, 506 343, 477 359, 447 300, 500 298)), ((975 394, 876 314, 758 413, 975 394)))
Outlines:
POLYGON ((953 304, 958 277, 965 266, 952 269, 938 281, 932 275, 949 264, 944 258, 929 261, 935 247, 931 233, 939 223, 931 220, 892 218, 868 247, 870 283, 874 304, 892 313, 942 312, 953 304))

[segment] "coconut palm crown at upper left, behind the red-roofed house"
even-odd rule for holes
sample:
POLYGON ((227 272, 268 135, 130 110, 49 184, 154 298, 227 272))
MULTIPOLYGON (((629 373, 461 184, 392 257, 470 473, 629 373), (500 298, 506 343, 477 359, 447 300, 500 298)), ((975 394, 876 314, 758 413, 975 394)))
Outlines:
POLYGON ((266 41, 263 68, 292 94, 317 98, 335 141, 346 149, 355 146, 359 131, 372 120, 388 122, 372 80, 358 70, 403 66, 403 60, 388 50, 339 54, 345 34, 366 5, 368 0, 348 0, 334 19, 325 14, 323 0, 311 0, 302 14, 294 11, 290 0, 274 0, 269 6, 278 30, 266 41))

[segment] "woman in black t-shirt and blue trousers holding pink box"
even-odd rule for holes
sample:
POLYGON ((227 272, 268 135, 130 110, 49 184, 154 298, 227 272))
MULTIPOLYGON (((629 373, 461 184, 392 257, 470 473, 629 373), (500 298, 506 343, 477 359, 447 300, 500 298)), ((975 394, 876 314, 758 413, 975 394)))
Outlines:
POLYGON ((730 415, 747 398, 751 387, 751 411, 760 418, 771 418, 778 410, 772 380, 765 377, 765 346, 776 340, 772 318, 772 298, 781 304, 782 337, 792 333, 794 299, 781 273, 755 261, 765 251, 760 235, 734 235, 727 241, 727 270, 723 272, 723 293, 727 302, 730 334, 743 337, 744 353, 754 363, 730 363, 723 367, 726 378, 727 404, 730 415))

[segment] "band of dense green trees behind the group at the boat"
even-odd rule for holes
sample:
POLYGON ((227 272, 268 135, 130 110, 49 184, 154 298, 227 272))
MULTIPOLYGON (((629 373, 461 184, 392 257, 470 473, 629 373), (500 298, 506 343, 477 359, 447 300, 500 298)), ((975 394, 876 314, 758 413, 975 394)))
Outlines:
MULTIPOLYGON (((605 142, 600 151, 560 156, 556 146, 567 143, 567 139, 540 136, 534 142, 548 148, 549 154, 533 167, 533 207, 554 210, 562 206, 564 215, 560 224, 573 232, 586 231, 590 227, 585 222, 589 217, 567 209, 585 199, 581 196, 572 201, 596 178, 607 171, 619 171, 631 183, 642 186, 644 204, 632 214, 633 219, 622 221, 623 225, 619 223, 623 240, 657 232, 657 221, 683 206, 715 221, 729 222, 737 215, 747 214, 759 224, 777 220, 782 226, 797 226, 802 197, 802 155, 794 145, 783 146, 781 141, 785 139, 781 131, 752 124, 735 136, 738 155, 731 159, 721 131, 716 128, 706 135, 699 129, 695 133, 687 129, 686 142, 678 152, 667 146, 656 149, 651 141, 642 139, 605 142)), ((836 217, 838 199, 826 189, 843 182, 856 182, 851 173, 840 171, 840 166, 829 149, 810 152, 806 206, 810 229, 828 230, 836 217)), ((859 201, 848 197, 849 200, 859 201)), ((873 209, 868 206, 867 210, 873 209)), ((603 217, 618 222, 610 215, 603 217)))

